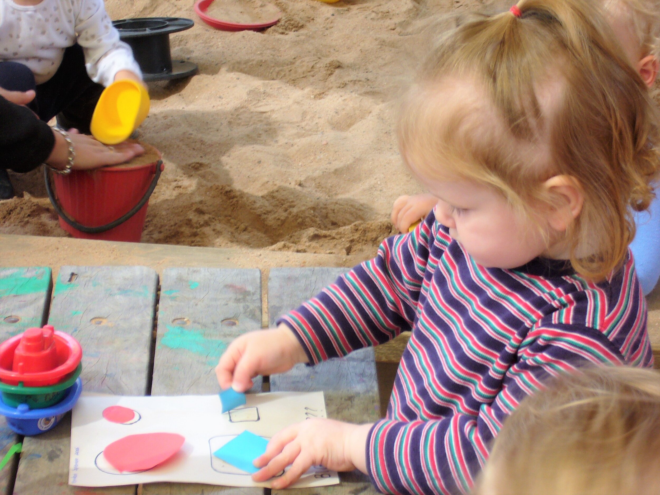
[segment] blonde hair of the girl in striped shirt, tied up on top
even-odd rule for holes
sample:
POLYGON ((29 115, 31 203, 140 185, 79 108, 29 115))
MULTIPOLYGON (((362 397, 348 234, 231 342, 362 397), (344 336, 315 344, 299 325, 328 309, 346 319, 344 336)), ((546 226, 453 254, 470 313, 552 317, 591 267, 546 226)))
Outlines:
POLYGON ((556 201, 545 180, 574 178, 585 201, 566 232, 570 261, 600 280, 626 259, 631 209, 645 210, 653 198, 656 109, 593 0, 517 7, 520 16, 473 16, 436 44, 402 105, 399 144, 415 172, 491 185, 531 218, 556 201), (440 116, 438 88, 461 80, 487 103, 440 116), (552 92, 542 111, 539 96, 552 92), (540 164, 544 147, 550 161, 540 164))

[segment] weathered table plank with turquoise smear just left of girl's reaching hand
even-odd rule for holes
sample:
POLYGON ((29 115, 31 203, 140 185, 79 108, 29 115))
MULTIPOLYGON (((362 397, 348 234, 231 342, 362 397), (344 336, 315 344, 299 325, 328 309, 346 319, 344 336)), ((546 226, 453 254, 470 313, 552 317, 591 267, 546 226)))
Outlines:
MULTIPOLYGON (((229 343, 261 328, 261 273, 175 268, 163 272, 152 395, 219 391, 215 366, 229 343)), ((261 379, 253 392, 261 391, 261 379)), ((152 483, 143 495, 262 495, 262 488, 152 483)))

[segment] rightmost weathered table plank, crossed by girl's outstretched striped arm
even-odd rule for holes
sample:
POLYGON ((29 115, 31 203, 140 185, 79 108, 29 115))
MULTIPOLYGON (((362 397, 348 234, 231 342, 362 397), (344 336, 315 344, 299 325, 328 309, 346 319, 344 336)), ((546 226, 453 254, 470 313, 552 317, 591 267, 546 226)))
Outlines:
MULTIPOLYGON (((296 308, 344 273, 335 268, 271 269, 268 281, 269 324, 279 315, 296 308)), ((319 391, 325 393, 329 418, 365 423, 378 420, 378 383, 374 349, 360 349, 345 358, 317 366, 298 365, 293 370, 270 378, 271 391, 319 391)), ((277 495, 354 495, 376 494, 370 480, 362 473, 341 473, 341 484, 300 490, 273 490, 277 495)))

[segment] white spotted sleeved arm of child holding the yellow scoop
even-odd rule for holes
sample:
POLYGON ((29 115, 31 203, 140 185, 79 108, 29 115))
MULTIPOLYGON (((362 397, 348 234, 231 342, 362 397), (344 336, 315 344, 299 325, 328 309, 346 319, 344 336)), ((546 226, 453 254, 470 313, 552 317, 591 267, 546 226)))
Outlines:
POLYGON ((81 0, 76 16, 78 43, 84 51, 87 73, 94 82, 109 86, 121 79, 142 81, 142 72, 131 48, 119 40, 102 0, 81 0), (130 74, 128 74, 130 73, 130 74))

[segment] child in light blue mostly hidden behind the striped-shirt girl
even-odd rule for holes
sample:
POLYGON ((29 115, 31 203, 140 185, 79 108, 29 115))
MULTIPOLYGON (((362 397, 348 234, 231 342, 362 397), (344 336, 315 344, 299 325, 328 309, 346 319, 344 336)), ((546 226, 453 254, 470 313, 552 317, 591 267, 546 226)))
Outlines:
MULTIPOLYGON (((602 3, 628 62, 651 88, 660 68, 660 1, 605 0, 602 3)), ((437 198, 428 193, 401 196, 392 207, 392 223, 401 232, 408 232, 411 225, 428 215, 436 202, 437 198)), ((660 198, 651 203, 648 211, 636 213, 635 223, 637 232, 630 249, 644 294, 648 294, 660 278, 660 198)))

